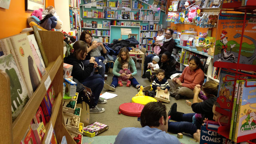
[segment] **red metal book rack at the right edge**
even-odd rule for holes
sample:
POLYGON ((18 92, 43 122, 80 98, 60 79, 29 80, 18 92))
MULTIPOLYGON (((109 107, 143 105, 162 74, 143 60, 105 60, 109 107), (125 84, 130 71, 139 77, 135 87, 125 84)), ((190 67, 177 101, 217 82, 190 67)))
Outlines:
MULTIPOLYGON (((256 18, 255 17, 256 12, 254 11, 254 9, 255 8, 250 7, 250 6, 249 7, 244 6, 244 7, 236 8, 234 10, 229 10, 229 11, 235 11, 235 12, 237 12, 237 11, 243 12, 243 14, 241 14, 241 15, 239 15, 239 14, 234 14, 234 15, 225 14, 225 13, 222 13, 222 10, 219 14, 222 17, 229 17, 228 19, 234 19, 234 20, 238 19, 238 20, 243 21, 243 23, 241 24, 241 26, 242 26, 242 31, 241 31, 241 35, 240 35, 241 36, 241 41, 240 41, 240 44, 239 44, 239 52, 238 52, 237 62, 226 62, 226 61, 223 62, 223 61, 217 61, 217 60, 214 61, 214 67, 227 68, 225 70, 227 74, 226 74, 226 76, 222 77, 222 81, 233 83, 233 85, 232 85, 233 92, 232 92, 232 99, 230 101, 230 104, 225 103, 225 100, 221 100, 220 97, 217 98, 217 102, 220 103, 221 107, 216 107, 216 111, 223 114, 223 115, 229 116, 228 125, 220 126, 218 128, 217 132, 219 134, 225 136, 226 139, 230 139, 230 133, 232 134, 234 132, 234 128, 233 128, 233 131, 231 131, 230 126, 233 127, 232 124, 235 124, 235 122, 232 123, 231 118, 233 118, 234 116, 237 115, 237 126, 236 126, 236 129, 235 129, 236 134, 234 136, 234 140, 236 140, 235 142, 237 142, 237 143, 244 142, 244 141, 249 142, 249 140, 256 139, 256 134, 255 134, 255 129, 254 129, 255 127, 253 126, 253 124, 255 124, 255 121, 253 120, 254 116, 252 115, 252 114, 255 113, 255 108, 253 106, 253 104, 255 104, 255 100, 253 100, 253 99, 251 99, 251 97, 249 97, 250 95, 253 96, 255 91, 253 91, 253 90, 250 91, 250 92, 249 91, 244 91, 244 93, 250 93, 250 94, 245 95, 245 98, 241 97, 242 88, 252 87, 254 89, 256 87, 255 83, 253 83, 253 84, 249 83, 249 80, 248 80, 249 78, 250 79, 255 79, 256 75, 241 72, 242 70, 254 71, 254 72, 256 71, 255 65, 251 64, 249 59, 246 61, 246 63, 244 63, 242 61, 243 59, 245 59, 244 53, 243 53, 244 41, 246 41, 246 39, 249 38, 247 36, 248 33, 244 34, 245 32, 247 32, 247 30, 245 28, 246 27, 250 28, 250 26, 249 26, 250 21, 248 22, 248 19, 256 18), (250 14, 248 14, 248 13, 250 13, 250 14), (254 14, 254 15, 252 16, 252 14, 254 14), (248 63, 250 63, 250 64, 248 64, 248 63), (240 93, 240 102, 242 101, 242 104, 240 104, 240 102, 239 102, 238 114, 236 114, 234 112, 237 112, 237 110, 233 109, 233 105, 234 105, 233 102, 234 102, 234 100, 236 100, 236 91, 235 91, 235 89, 237 88, 236 85, 238 85, 237 84, 239 82, 238 80, 243 80, 244 81, 244 87, 241 87, 241 93, 240 93), (250 100, 250 102, 249 102, 249 100, 250 100), (244 109, 243 105, 250 105, 250 107, 247 108, 247 109, 244 109), (240 106, 241 106, 241 112, 240 112, 240 116, 239 116, 240 106), (250 114, 249 111, 252 111, 252 113, 250 114), (247 114, 246 114, 246 112, 247 112, 247 114), (232 117, 232 115, 233 115, 233 117, 232 117), (241 120, 243 120, 245 115, 248 115, 248 117, 250 116, 251 119, 250 118, 249 118, 250 120, 245 119, 247 122, 243 123, 241 120), (240 123, 243 124, 243 125, 240 126, 240 123), (250 129, 248 129, 248 127, 250 127, 250 129), (240 135, 237 134, 237 133, 240 133, 240 135)), ((225 18, 224 18, 224 20, 225 20, 225 18)), ((253 23, 251 23, 251 25, 252 24, 253 23)), ((236 38, 236 37, 234 36, 234 38, 236 38)), ((215 58, 215 56, 214 56, 214 58, 215 58)), ((253 60, 255 60, 255 58, 253 60)), ((251 81, 253 81, 253 80, 251 80, 251 81)), ((240 87, 240 83, 239 83, 239 87, 240 87)), ((220 83, 220 85, 221 85, 221 83, 220 83)), ((242 86, 243 86, 243 84, 242 84, 242 86)), ((238 91, 238 94, 239 94, 239 91, 238 91)), ((238 97, 239 97, 238 94, 237 94, 237 100, 238 100, 238 97)), ((242 95, 242 96, 244 96, 244 95, 242 95)), ((236 118, 234 118, 234 119, 236 120, 236 118)), ((233 136, 232 136, 232 139, 233 139, 233 136)), ((252 142, 249 142, 249 143, 252 143, 252 142)))

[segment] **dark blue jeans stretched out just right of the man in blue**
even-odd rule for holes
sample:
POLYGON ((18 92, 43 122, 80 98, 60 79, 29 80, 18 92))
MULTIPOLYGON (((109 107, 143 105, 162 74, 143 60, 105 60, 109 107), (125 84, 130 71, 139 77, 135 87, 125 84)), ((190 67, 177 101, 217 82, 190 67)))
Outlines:
POLYGON ((193 135, 197 129, 200 129, 200 123, 193 124, 192 118, 196 113, 188 113, 182 115, 182 121, 179 122, 171 122, 168 121, 168 131, 180 133, 185 132, 193 135))

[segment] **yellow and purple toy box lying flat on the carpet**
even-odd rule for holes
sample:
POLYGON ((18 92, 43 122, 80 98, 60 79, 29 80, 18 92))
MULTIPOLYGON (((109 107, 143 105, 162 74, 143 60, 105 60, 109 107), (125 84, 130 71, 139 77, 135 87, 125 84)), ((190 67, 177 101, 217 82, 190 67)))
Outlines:
POLYGON ((108 125, 101 124, 99 122, 94 122, 83 128, 83 135, 86 135, 92 138, 108 129, 109 129, 108 125))

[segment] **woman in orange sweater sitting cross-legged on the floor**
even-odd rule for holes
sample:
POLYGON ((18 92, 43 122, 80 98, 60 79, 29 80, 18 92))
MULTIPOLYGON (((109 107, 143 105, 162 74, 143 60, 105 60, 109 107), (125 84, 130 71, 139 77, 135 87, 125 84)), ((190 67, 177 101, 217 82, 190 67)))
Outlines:
POLYGON ((204 81, 204 73, 202 68, 202 63, 200 59, 196 56, 192 56, 189 59, 188 67, 186 67, 179 78, 168 79, 169 85, 172 87, 170 89, 172 97, 176 100, 180 98, 190 98, 194 97, 194 87, 199 84, 202 85, 204 81))

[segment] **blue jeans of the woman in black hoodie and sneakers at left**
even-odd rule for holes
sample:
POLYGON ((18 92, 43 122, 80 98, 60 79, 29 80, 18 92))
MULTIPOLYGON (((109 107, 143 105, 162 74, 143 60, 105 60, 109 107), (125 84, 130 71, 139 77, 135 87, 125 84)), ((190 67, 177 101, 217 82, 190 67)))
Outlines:
POLYGON ((102 76, 99 74, 89 76, 82 82, 82 84, 91 89, 92 95, 94 96, 94 104, 96 106, 98 104, 100 92, 104 86, 104 80, 102 79, 102 76))

